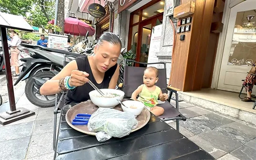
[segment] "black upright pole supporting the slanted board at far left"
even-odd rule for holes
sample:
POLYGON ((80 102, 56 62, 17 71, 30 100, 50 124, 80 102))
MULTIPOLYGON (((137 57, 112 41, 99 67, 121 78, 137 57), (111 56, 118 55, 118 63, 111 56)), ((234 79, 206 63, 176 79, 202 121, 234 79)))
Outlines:
POLYGON ((16 106, 15 106, 14 90, 13 90, 12 77, 11 77, 11 68, 10 68, 11 66, 10 66, 10 59, 9 59, 7 33, 6 33, 5 27, 1 27, 1 39, 2 39, 2 47, 4 52, 4 62, 5 62, 5 69, 6 69, 5 74, 6 74, 7 86, 8 86, 10 110, 13 112, 13 111, 16 111, 16 106))

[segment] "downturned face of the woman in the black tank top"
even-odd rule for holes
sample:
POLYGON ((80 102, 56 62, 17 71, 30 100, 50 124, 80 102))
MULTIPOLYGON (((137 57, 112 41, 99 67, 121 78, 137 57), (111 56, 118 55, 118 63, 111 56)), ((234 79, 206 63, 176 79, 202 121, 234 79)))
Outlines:
POLYGON ((96 67, 100 72, 106 72, 113 67, 120 54, 120 45, 110 44, 103 41, 102 45, 94 48, 96 67))

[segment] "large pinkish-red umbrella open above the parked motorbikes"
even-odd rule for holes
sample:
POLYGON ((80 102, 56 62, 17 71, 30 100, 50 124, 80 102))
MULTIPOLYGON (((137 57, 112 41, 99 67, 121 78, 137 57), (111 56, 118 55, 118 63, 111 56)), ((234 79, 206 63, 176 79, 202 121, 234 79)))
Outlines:
MULTIPOLYGON (((54 24, 54 19, 48 22, 49 24, 54 24)), ((87 23, 76 19, 76 18, 65 18, 64 20, 64 33, 75 35, 75 36, 85 36, 87 31, 89 31, 89 36, 94 35, 95 29, 89 26, 87 23)))

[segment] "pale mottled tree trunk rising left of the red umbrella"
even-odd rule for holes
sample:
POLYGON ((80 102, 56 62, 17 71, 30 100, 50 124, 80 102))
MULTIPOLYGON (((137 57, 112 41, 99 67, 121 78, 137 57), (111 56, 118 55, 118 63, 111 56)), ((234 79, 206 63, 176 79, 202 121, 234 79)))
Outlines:
POLYGON ((61 28, 61 35, 64 35, 64 0, 59 0, 58 2, 58 14, 57 14, 57 26, 61 28))

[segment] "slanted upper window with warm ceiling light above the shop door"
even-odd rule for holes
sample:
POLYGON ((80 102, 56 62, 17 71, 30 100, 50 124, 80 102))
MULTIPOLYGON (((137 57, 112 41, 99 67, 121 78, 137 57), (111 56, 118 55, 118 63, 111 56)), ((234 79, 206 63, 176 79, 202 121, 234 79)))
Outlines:
POLYGON ((159 13, 163 13, 165 9, 165 1, 161 0, 154 5, 143 9, 142 11, 142 20, 153 17, 159 13))

